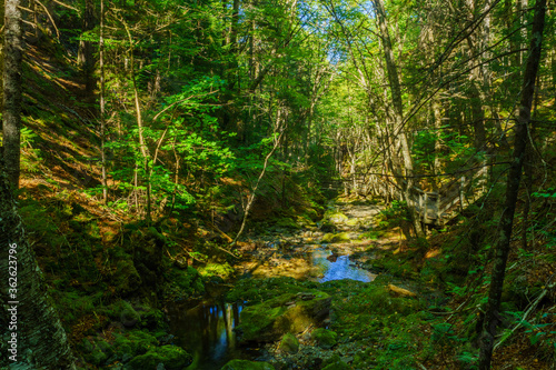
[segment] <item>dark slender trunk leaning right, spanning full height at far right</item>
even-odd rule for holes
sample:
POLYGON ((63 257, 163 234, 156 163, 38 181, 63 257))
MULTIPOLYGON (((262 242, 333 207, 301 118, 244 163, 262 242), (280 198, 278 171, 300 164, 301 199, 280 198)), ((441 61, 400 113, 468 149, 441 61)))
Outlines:
POLYGON ((519 104, 519 116, 517 118, 513 161, 509 167, 506 201, 500 217, 500 234, 496 243, 496 257, 493 267, 493 278, 488 292, 488 302, 483 323, 483 336, 480 340, 479 370, 490 368, 493 357, 494 339, 496 338, 496 327, 498 326, 498 310, 500 307, 502 289, 506 273, 506 262, 509 253, 509 242, 514 223, 519 182, 522 180, 522 168, 528 143, 528 124, 530 123, 530 111, 535 92, 535 80, 540 62, 540 48, 543 44, 543 30, 545 26, 546 0, 537 0, 535 6, 535 17, 533 20, 533 34, 529 46, 529 57, 525 67, 522 101, 519 104))

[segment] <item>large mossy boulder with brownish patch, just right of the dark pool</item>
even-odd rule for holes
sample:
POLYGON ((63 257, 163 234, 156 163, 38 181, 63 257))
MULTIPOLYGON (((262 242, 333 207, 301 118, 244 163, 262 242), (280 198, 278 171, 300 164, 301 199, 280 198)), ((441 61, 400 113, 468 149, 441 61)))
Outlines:
POLYGON ((287 332, 297 333, 318 326, 330 312, 331 297, 318 290, 285 293, 241 311, 237 327, 240 340, 269 342, 287 332))

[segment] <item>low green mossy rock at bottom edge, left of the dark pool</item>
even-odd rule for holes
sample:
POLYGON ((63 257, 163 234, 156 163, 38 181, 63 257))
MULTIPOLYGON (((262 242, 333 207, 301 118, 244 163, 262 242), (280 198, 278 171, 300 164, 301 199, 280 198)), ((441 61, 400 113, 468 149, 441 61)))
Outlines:
POLYGON ((177 346, 162 346, 150 349, 147 353, 137 356, 126 366, 132 370, 157 369, 159 363, 163 363, 167 370, 182 370, 192 362, 192 356, 185 349, 177 346))

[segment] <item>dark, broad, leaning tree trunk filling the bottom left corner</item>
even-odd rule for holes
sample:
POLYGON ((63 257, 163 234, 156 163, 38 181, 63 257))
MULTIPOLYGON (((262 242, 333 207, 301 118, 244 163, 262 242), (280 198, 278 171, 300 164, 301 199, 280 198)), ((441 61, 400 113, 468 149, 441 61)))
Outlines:
MULTIPOLYGON (((0 173, 0 276, 10 362, 75 369, 73 356, 27 240, 6 173, 0 173), (11 342, 10 342, 11 341, 11 342), (12 350, 14 349, 14 350, 12 350)), ((3 321, 3 320, 2 320, 3 321)))

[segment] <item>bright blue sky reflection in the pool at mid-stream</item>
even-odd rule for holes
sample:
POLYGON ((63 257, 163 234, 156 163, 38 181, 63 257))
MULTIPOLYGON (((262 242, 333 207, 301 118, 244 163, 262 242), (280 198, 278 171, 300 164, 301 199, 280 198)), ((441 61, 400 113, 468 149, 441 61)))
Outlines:
POLYGON ((376 274, 354 266, 349 261, 349 256, 332 254, 331 251, 321 248, 314 250, 310 256, 312 264, 324 273, 319 282, 341 279, 369 282, 376 278, 376 274))

